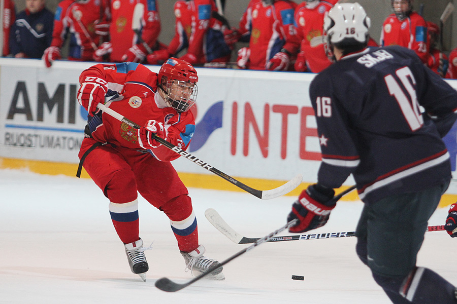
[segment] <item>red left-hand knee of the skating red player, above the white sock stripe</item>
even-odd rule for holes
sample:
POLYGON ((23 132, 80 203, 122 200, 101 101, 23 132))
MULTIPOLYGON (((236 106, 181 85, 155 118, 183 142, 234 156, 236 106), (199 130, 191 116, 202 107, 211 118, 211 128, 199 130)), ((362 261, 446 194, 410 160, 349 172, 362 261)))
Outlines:
POLYGON ((135 201, 138 197, 135 175, 130 170, 119 170, 114 173, 105 186, 105 196, 113 203, 135 201))

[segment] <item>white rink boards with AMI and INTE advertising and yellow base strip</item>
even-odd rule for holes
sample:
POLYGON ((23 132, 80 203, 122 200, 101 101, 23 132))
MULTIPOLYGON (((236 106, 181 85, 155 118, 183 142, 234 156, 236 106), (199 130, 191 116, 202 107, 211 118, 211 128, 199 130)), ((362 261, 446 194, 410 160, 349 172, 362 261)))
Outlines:
MULTIPOLYGON (((57 61, 47 69, 41 60, 0 59, 0 168, 76 174, 87 117, 76 100, 78 77, 92 64, 57 61)), ((321 157, 308 95, 314 74, 197 70, 196 131, 189 153, 259 189, 274 188, 299 173, 303 186, 315 181, 321 157)), ((457 81, 448 82, 457 89, 457 81)), ((457 143, 455 136, 446 140, 455 177, 457 143)), ((187 186, 238 189, 188 159, 173 163, 187 186)), ((345 185, 353 183, 349 178, 345 185)), ((457 198, 453 184, 443 205, 457 198)), ((352 193, 345 199, 357 197, 352 193)))

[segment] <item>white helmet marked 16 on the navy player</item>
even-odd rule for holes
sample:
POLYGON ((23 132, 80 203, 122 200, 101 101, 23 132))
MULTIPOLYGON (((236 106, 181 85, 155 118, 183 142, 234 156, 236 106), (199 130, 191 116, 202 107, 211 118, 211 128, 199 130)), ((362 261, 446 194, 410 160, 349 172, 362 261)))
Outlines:
POLYGON ((340 47, 367 44, 370 17, 358 3, 336 4, 324 17, 328 43, 340 47))

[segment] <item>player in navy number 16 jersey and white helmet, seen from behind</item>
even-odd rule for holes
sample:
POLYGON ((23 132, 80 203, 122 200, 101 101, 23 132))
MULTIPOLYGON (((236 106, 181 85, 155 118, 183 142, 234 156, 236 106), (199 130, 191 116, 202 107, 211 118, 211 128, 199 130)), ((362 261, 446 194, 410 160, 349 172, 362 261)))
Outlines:
POLYGON ((324 31, 336 62, 310 85, 322 152, 317 183, 293 203, 293 233, 324 225, 334 188, 352 174, 365 203, 356 252, 395 304, 457 303, 455 286, 416 257, 451 178, 441 138, 456 120, 457 92, 414 51, 367 49, 370 19, 336 4, 324 31), (425 109, 421 112, 420 106, 425 109))

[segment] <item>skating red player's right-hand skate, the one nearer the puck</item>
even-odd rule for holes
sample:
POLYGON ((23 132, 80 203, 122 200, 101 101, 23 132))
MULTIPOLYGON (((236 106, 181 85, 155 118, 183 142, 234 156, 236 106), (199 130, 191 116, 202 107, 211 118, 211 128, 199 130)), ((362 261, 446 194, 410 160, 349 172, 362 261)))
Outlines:
MULTIPOLYGON (((207 272, 210 268, 220 265, 218 261, 203 255, 205 253, 205 247, 203 245, 200 245, 197 249, 190 252, 180 252, 186 262, 186 271, 190 270, 193 276, 198 276, 207 272)), ((206 278, 212 280, 224 280, 225 276, 222 274, 222 267, 211 272, 208 276, 206 276, 206 278)))

